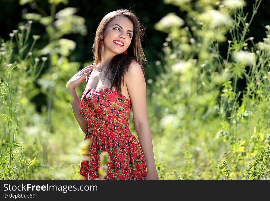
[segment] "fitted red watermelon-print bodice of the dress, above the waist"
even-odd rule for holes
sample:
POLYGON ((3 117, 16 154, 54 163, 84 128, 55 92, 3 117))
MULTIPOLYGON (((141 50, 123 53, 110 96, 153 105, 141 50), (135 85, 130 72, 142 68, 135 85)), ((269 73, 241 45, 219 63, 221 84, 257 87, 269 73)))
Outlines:
MULTIPOLYGON (((117 91, 111 88, 86 88, 80 103, 80 114, 91 129, 111 127, 113 130, 127 131, 130 110, 130 100, 124 95, 118 95, 117 91)), ((107 130, 104 130, 103 134, 106 132, 107 130)))

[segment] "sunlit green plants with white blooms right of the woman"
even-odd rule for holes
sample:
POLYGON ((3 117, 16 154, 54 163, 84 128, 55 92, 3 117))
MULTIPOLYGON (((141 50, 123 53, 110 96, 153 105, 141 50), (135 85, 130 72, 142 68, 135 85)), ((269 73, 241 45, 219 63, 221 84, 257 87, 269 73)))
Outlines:
POLYGON ((254 1, 251 17, 240 0, 164 2, 187 14, 183 20, 169 13, 155 25, 168 33, 164 58, 156 62, 165 72, 149 90, 159 173, 269 179, 269 25, 262 42, 246 37, 261 1, 254 1), (223 58, 219 46, 226 42, 223 58), (247 87, 239 91, 243 76, 247 87))

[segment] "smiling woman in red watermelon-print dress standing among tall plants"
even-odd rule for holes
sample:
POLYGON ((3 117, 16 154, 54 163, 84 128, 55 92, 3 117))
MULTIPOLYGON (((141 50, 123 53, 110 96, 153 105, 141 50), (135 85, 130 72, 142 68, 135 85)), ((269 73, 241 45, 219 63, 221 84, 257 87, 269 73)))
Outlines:
POLYGON ((106 14, 94 39, 94 63, 67 83, 74 97, 75 118, 88 142, 80 166, 84 179, 159 179, 147 117, 145 73, 140 65, 146 61, 140 40, 143 34, 129 10, 106 14), (80 101, 75 88, 84 80, 80 101), (131 106, 140 144, 129 130, 131 106), (109 155, 104 177, 99 171, 102 152, 109 155))

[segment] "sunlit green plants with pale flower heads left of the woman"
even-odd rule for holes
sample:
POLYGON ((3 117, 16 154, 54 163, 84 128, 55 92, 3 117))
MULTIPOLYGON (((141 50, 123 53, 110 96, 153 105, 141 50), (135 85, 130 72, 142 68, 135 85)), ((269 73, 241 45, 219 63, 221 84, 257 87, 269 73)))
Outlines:
MULTIPOLYGON (((21 4, 28 2, 31 1, 20 1, 21 4)), ((81 139, 74 135, 79 130, 73 126, 72 111, 68 113, 69 119, 63 119, 68 116, 63 115, 63 111, 70 106, 65 85, 72 72, 79 69, 79 63, 70 62, 67 58, 74 50, 75 42, 62 36, 86 34, 86 27, 85 20, 74 15, 74 8, 56 13, 56 5, 60 2, 67 1, 51 1, 51 16, 41 17, 38 13, 23 15, 28 20, 27 24, 13 30, 9 41, 2 41, 1 179, 79 179, 76 167, 79 166, 78 144, 81 139), (40 21, 49 36, 49 43, 42 50, 34 48, 40 36, 30 37, 33 20, 40 21), (48 57, 43 56, 45 54, 48 57), (41 75, 45 63, 48 70, 41 75), (48 100, 41 113, 32 102, 40 93, 48 100), (64 127, 60 121, 71 127, 64 127), (73 136, 67 140, 71 133, 73 136), (75 150, 69 148, 69 143, 76 144, 73 146, 75 150)))

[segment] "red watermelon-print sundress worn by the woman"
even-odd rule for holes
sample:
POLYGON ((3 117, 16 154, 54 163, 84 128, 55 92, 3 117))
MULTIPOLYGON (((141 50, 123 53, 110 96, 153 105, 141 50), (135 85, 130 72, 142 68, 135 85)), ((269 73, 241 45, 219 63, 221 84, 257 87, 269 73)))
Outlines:
POLYGON ((145 158, 129 130, 131 101, 111 88, 86 87, 79 109, 88 124, 84 137, 88 150, 82 155, 80 175, 84 179, 145 179, 145 158), (109 155, 105 177, 99 171, 103 151, 109 155))

